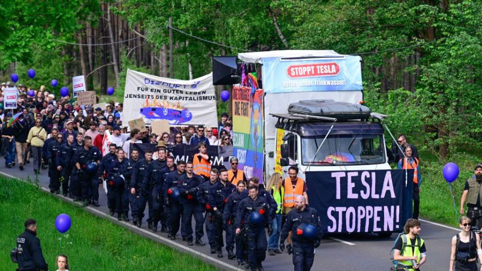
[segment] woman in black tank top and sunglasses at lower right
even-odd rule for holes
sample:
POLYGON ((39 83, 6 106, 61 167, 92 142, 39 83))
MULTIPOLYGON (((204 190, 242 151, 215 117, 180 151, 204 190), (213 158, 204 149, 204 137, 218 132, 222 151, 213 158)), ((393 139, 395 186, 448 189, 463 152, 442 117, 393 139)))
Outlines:
MULTIPOLYGON (((482 262, 482 249, 478 234, 470 230, 470 219, 460 219, 462 231, 452 237, 450 271, 477 271, 477 257, 482 262)), ((480 267, 482 271, 482 267, 480 267)))

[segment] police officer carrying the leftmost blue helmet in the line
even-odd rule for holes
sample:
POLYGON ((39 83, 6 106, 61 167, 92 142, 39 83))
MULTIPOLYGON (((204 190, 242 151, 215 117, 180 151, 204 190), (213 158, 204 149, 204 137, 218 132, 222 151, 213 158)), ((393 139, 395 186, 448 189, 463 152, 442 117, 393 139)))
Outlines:
POLYGON ((92 146, 92 139, 87 135, 84 138, 84 147, 78 149, 73 158, 75 163, 75 168, 77 170, 80 187, 81 187, 81 197, 83 200, 83 206, 88 205, 89 198, 92 199, 92 205, 99 206, 99 182, 97 180, 95 173, 87 172, 87 163, 93 162, 97 165, 100 163, 100 151, 97 147, 92 146), (91 194, 89 195, 89 188, 91 194))

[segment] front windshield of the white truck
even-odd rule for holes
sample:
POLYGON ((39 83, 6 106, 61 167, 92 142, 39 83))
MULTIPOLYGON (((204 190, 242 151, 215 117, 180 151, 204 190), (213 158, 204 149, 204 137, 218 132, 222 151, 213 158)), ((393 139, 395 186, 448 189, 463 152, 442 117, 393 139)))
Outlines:
POLYGON ((301 153, 303 165, 372 165, 385 163, 382 134, 325 135, 303 137, 301 153), (316 156, 315 156, 316 153, 316 156))

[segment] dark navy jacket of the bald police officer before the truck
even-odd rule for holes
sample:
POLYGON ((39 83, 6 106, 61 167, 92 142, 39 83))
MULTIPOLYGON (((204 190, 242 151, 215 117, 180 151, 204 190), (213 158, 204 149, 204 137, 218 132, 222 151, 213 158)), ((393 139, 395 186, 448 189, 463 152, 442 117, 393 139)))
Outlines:
MULTIPOLYGON (((306 207, 303 211, 299 211, 297 209, 292 209, 286 215, 286 221, 283 225, 281 230, 281 241, 284 241, 286 237, 288 237, 288 232, 293 232, 292 240, 294 242, 314 242, 316 239, 321 239, 323 237, 323 231, 321 228, 320 217, 318 216, 318 211, 315 208, 311 208, 306 204, 306 207), (306 239, 303 238, 303 235, 296 234, 297 228, 301 223, 307 223, 315 226, 318 229, 318 238, 315 239, 306 239)), ((281 242, 280 241, 280 242, 281 242)))

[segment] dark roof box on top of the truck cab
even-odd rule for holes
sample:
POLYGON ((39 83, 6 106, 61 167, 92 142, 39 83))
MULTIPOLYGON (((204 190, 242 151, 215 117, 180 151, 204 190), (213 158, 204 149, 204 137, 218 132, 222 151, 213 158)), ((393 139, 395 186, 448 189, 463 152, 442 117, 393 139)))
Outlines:
POLYGON ((369 118, 372 111, 365 105, 355 103, 334 100, 303 100, 291 103, 288 112, 337 119, 362 119, 369 118))

